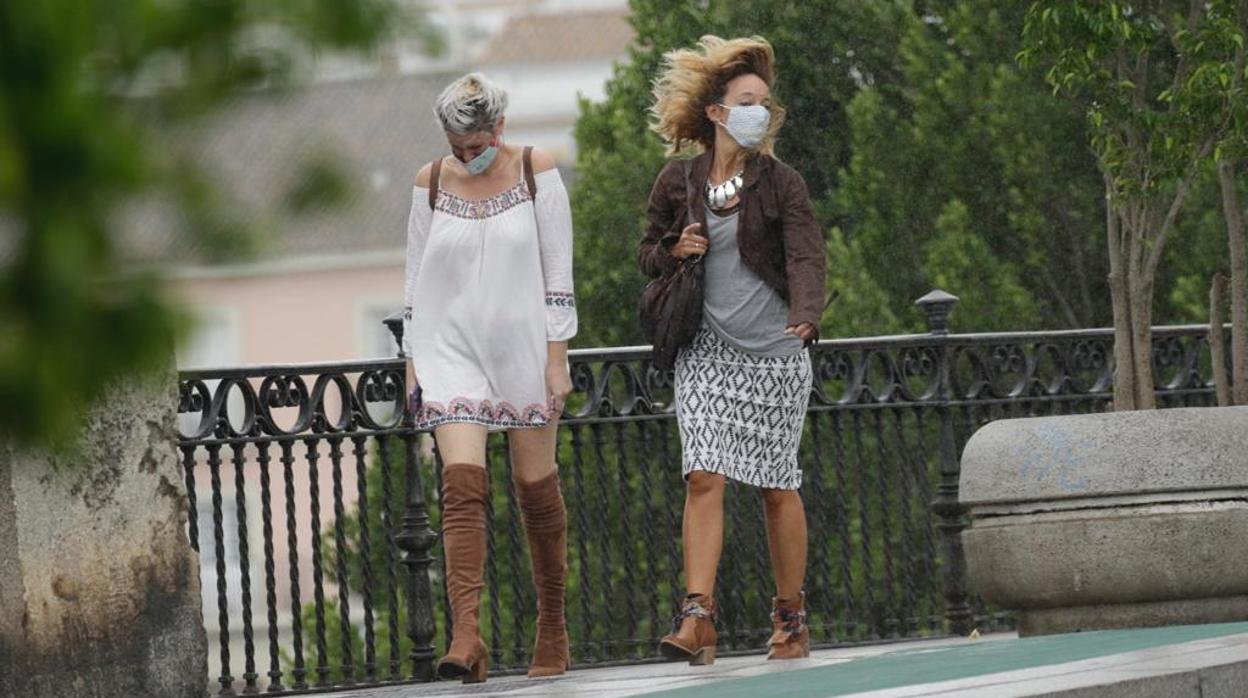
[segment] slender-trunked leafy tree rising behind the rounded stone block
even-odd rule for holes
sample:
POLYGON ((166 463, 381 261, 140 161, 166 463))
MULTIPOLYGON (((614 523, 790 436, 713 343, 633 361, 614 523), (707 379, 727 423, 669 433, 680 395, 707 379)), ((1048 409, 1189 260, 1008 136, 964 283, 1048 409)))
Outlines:
POLYGON ((1087 115, 1109 204, 1119 410, 1154 406, 1158 271, 1202 171, 1243 121, 1246 25, 1239 0, 1045 0, 1027 10, 1020 60, 1087 115))

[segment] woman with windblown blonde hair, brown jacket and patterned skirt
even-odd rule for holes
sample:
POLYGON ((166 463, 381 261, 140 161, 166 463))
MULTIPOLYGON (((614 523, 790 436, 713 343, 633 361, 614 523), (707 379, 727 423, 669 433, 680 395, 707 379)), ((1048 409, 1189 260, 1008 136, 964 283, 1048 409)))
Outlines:
POLYGON ((660 651, 715 659, 715 572, 729 479, 759 487, 776 593, 769 659, 810 654, 806 514, 797 446, 811 390, 824 238, 806 184, 773 154, 784 121, 775 54, 761 37, 704 36, 655 81, 654 130, 674 159, 650 192, 639 263, 650 277, 701 263, 703 327, 676 357, 685 481, 685 591, 660 651))

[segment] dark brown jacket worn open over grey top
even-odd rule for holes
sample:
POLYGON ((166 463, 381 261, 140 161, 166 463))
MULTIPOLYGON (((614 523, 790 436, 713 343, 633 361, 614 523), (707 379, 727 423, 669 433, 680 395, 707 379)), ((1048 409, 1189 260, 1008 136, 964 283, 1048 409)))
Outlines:
MULTIPOLYGON (((645 237, 638 262, 641 272, 661 276, 676 267, 668 250, 689 222, 706 227, 703 191, 714 154, 668 162, 650 191, 645 237), (686 179, 685 172, 689 172, 686 179), (691 217, 691 220, 690 220, 691 217)), ((824 235, 810 211, 806 182, 796 170, 768 155, 745 165, 736 242, 741 262, 789 303, 789 326, 809 322, 819 331, 824 311, 826 252, 824 235)))

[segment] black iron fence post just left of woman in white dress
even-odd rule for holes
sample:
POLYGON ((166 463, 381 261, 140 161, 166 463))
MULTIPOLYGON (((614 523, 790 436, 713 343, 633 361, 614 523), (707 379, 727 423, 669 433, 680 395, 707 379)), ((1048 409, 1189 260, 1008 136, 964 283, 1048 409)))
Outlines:
MULTIPOLYGON (((386 326, 398 343, 398 356, 403 353, 403 316, 394 313, 386 318, 386 326)), ((433 564, 433 544, 438 534, 429 528, 429 514, 424 506, 424 484, 421 479, 421 457, 417 450, 414 415, 408 410, 407 381, 403 381, 403 465, 407 494, 403 522, 394 544, 403 551, 402 564, 407 597, 407 637, 412 641, 412 678, 433 681, 433 589, 429 584, 429 567, 433 564)))

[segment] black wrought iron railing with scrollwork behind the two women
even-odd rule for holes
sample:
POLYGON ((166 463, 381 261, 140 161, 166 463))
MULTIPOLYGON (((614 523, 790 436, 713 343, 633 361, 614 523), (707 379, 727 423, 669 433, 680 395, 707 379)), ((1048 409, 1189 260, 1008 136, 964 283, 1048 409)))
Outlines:
MULTIPOLYGON (((961 446, 996 418, 1098 412, 1109 330, 824 341, 801 447, 806 581, 819 644, 967 633, 1008 618, 971 598, 957 504, 961 446)), ((1209 405, 1207 330, 1158 327, 1163 406, 1209 405)), ((645 347, 572 352, 558 458, 569 516, 578 666, 648 662, 680 587, 684 483, 670 377, 645 347)), ((448 641, 437 561, 437 451, 402 412, 403 360, 186 371, 182 458, 222 694, 426 681, 448 641)), ((482 626, 498 672, 523 668, 535 599, 492 437, 482 626)), ((721 653, 759 652, 773 589, 755 489, 730 487, 721 653)))

